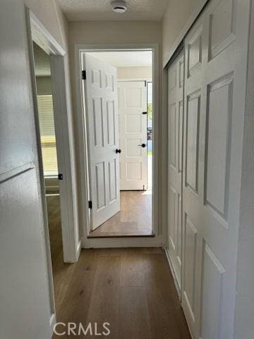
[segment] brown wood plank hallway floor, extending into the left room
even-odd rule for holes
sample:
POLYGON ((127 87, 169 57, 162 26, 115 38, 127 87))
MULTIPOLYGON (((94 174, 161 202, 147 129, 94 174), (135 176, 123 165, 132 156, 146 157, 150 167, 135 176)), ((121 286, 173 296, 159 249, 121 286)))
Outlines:
POLYGON ((78 263, 63 263, 59 198, 47 203, 57 321, 96 322, 97 333, 110 323, 100 338, 191 339, 162 249, 83 249, 78 263))

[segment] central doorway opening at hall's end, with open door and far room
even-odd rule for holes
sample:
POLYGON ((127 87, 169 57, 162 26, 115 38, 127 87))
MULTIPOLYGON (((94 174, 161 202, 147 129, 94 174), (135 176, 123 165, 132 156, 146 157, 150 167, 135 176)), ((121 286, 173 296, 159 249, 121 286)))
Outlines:
POLYGON ((89 238, 154 236, 152 57, 152 50, 84 54, 89 238))

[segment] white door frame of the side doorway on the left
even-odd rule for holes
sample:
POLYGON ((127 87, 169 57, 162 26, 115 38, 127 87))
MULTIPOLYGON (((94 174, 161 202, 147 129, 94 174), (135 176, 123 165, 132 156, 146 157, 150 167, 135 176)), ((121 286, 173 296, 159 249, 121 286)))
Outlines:
POLYGON ((61 196, 61 231, 63 239, 63 260, 65 262, 75 262, 78 260, 80 245, 77 244, 78 230, 77 218, 75 216, 75 191, 73 184, 73 154, 71 151, 70 117, 66 102, 66 81, 63 56, 66 54, 61 45, 56 42, 47 28, 40 22, 29 8, 26 8, 28 27, 28 47, 30 57, 30 72, 32 80, 32 99, 35 111, 35 129, 37 137, 37 155, 39 160, 40 184, 42 187, 42 202, 44 204, 44 224, 47 234, 47 256, 49 271, 52 271, 49 231, 47 220, 47 205, 45 196, 44 174, 42 165, 42 149, 40 142, 39 114, 37 107, 37 88, 35 77, 35 65, 33 58, 32 41, 35 41, 51 57, 52 70, 52 92, 54 96, 54 120, 56 124, 56 148, 57 160, 59 162, 59 172, 63 173, 63 180, 59 181, 61 196))

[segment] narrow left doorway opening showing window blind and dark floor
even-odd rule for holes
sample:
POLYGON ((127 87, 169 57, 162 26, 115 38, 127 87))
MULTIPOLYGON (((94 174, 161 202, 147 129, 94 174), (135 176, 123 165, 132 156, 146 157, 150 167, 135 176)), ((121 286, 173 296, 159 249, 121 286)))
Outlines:
POLYGON ((59 308, 57 281, 63 263, 63 241, 59 189, 59 164, 57 158, 56 129, 52 93, 50 56, 36 42, 32 42, 37 90, 37 109, 40 127, 40 149, 44 177, 49 245, 54 283, 56 310, 59 308), (60 264, 60 265, 59 265, 60 264))

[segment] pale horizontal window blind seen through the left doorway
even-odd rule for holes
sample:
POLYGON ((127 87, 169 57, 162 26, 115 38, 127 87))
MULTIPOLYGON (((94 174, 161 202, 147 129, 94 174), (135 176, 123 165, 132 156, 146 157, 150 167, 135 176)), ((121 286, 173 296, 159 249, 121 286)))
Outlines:
POLYGON ((44 176, 58 174, 52 95, 37 95, 44 176))

